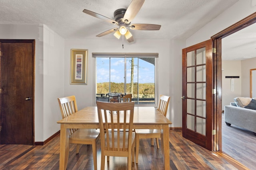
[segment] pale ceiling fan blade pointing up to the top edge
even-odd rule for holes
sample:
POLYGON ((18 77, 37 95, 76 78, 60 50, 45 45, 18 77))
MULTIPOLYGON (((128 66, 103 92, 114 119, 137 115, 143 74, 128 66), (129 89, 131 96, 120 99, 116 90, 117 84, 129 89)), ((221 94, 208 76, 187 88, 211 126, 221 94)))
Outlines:
POLYGON ((123 21, 125 23, 130 23, 133 18, 138 14, 140 8, 142 7, 145 0, 132 0, 130 5, 128 6, 123 21))

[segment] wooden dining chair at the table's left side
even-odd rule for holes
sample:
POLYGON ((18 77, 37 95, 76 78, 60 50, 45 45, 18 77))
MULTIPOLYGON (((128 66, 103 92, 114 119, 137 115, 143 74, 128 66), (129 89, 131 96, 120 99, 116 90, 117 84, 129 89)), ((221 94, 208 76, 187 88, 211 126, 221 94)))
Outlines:
MULTIPOLYGON (((58 102, 62 118, 78 111, 75 96, 58 98, 58 102)), ((100 134, 99 129, 70 129, 69 134, 69 143, 77 144, 76 154, 79 153, 82 144, 92 145, 94 170, 97 170, 96 140, 100 134)))

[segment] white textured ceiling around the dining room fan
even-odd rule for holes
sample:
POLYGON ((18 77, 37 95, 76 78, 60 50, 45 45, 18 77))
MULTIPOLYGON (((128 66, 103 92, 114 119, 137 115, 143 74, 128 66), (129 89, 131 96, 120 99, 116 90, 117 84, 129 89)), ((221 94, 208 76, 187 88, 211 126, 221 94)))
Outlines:
MULTIPOLYGON (((238 0, 145 0, 132 23, 162 25, 159 31, 132 30, 136 39, 182 39, 189 37, 238 0)), ((115 25, 82 11, 114 19, 131 0, 1 0, 0 23, 43 23, 65 39, 115 39, 96 37, 115 25)))

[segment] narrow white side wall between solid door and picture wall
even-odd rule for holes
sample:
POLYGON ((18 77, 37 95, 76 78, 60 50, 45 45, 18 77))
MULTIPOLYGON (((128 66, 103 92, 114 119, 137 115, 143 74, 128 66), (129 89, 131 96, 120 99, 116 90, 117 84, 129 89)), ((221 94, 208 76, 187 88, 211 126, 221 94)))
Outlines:
MULTIPOLYGON (((43 141, 60 130, 62 119, 57 98, 64 94, 64 39, 44 25, 43 141)), ((37 101, 38 102, 38 101, 37 101)))

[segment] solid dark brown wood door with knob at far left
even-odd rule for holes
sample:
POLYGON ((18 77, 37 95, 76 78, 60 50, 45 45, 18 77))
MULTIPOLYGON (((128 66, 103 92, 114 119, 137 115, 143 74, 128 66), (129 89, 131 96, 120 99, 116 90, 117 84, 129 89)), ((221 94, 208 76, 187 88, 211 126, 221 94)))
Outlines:
POLYGON ((34 145, 34 40, 1 42, 1 144, 34 145))

